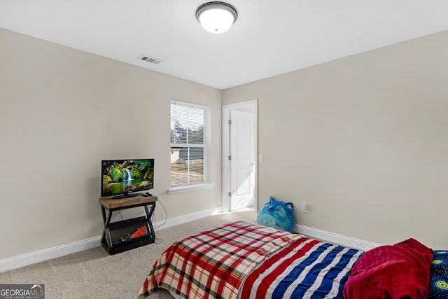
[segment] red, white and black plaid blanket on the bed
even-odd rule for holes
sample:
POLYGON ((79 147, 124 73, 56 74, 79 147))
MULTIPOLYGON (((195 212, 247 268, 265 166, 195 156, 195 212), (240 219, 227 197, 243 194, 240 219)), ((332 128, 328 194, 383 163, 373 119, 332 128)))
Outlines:
POLYGON ((186 237, 155 262, 139 298, 157 288, 183 298, 237 298, 242 281, 258 263, 301 237, 242 221, 186 237))

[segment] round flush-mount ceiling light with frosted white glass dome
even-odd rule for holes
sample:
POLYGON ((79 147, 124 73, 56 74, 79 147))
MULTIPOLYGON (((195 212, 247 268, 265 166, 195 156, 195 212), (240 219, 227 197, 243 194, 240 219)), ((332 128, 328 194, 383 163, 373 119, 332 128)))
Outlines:
POLYGON ((204 29, 217 34, 228 31, 237 20, 238 13, 230 4, 214 1, 198 7, 196 18, 204 29))

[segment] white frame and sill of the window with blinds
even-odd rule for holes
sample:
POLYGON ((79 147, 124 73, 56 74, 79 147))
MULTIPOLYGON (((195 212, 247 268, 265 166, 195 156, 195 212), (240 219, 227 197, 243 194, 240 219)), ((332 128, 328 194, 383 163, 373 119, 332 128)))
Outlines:
MULTIPOLYGON (((174 194, 174 193, 180 193, 180 192, 186 192, 190 190, 200 190, 204 188, 211 188, 214 186, 213 183, 211 183, 210 179, 210 144, 211 144, 211 109, 209 106, 202 105, 202 104, 194 104, 190 102, 183 102, 179 101, 177 99, 172 99, 169 104, 169 114, 170 114, 170 120, 172 118, 172 104, 176 104, 179 106, 192 108, 192 109, 201 109, 204 111, 204 140, 203 144, 190 144, 190 147, 197 148, 201 147, 204 148, 204 181, 200 183, 185 183, 182 185, 172 185, 172 172, 171 172, 171 162, 170 162, 170 171, 169 171, 169 190, 168 194, 174 194)), ((169 149, 172 150, 173 147, 179 147, 179 144, 172 143, 171 141, 171 121, 170 121, 170 140, 169 140, 169 149)), ((181 147, 189 147, 189 146, 182 146, 181 147)))

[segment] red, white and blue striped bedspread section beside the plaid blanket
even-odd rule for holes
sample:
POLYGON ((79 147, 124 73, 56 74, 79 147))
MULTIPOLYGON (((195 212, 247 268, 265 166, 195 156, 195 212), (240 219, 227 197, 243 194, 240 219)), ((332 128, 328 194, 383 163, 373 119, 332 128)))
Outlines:
POLYGON ((239 298, 341 298, 363 251, 314 239, 296 240, 246 277, 239 298))

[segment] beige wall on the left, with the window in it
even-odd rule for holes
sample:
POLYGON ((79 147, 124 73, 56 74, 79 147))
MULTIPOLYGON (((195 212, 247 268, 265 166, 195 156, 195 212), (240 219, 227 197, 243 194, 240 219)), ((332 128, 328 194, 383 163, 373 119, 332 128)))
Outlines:
POLYGON ((221 90, 3 29, 0 45, 0 259, 101 235, 102 159, 155 158, 169 218, 221 205, 221 90), (167 195, 170 99, 211 106, 214 188, 167 195))

